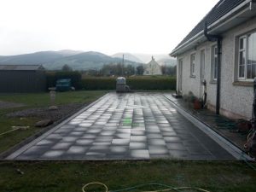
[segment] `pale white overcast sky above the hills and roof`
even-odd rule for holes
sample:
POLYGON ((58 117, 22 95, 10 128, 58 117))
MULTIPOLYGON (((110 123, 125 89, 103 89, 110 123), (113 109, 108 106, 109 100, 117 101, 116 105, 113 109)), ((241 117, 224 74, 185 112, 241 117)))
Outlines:
POLYGON ((218 0, 0 0, 0 55, 168 54, 218 0))

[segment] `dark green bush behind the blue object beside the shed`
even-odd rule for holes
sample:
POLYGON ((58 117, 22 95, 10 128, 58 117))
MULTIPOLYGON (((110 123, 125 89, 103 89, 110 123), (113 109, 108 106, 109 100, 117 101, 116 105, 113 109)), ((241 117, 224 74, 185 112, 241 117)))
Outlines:
POLYGON ((71 84, 76 90, 82 89, 82 76, 79 72, 47 73, 47 87, 55 87, 57 79, 71 79, 71 84))

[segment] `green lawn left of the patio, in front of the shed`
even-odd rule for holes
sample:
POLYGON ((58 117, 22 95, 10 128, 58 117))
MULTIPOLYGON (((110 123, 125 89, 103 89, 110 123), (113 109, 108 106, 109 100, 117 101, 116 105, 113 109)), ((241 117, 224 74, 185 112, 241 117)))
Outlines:
MULTIPOLYGON (((56 105, 63 105, 68 103, 84 103, 88 104, 94 102, 100 96, 103 96, 107 91, 73 91, 73 92, 61 92, 56 94, 55 103, 56 105)), ((3 102, 16 102, 25 104, 25 107, 21 108, 0 108, 0 134, 12 129, 12 126, 22 125, 30 126, 30 129, 25 131, 12 131, 8 134, 0 136, 0 153, 4 150, 14 146, 26 137, 32 136, 38 132, 39 128, 35 128, 35 123, 40 120, 38 118, 8 118, 5 114, 19 111, 27 108, 40 108, 49 107, 49 93, 38 93, 38 94, 2 94, 0 95, 0 101, 3 102)), ((1 190, 0 190, 1 191, 1 190)))

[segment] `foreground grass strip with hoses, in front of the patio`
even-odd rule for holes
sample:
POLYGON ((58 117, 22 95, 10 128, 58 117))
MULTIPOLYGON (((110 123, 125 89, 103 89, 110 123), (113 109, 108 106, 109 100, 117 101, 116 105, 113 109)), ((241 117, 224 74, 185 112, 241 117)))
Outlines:
MULTIPOLYGON (((20 161, 0 162, 2 192, 79 192, 85 183, 102 182, 109 190, 143 183, 196 187, 211 192, 253 192, 256 172, 238 161, 20 161), (16 170, 20 169, 24 174, 16 170)), ((143 187, 139 190, 153 190, 143 187)), ((160 189, 160 188, 157 188, 160 189)), ((105 191, 91 186, 89 191, 105 191)), ((192 190, 183 190, 192 191, 192 190)))

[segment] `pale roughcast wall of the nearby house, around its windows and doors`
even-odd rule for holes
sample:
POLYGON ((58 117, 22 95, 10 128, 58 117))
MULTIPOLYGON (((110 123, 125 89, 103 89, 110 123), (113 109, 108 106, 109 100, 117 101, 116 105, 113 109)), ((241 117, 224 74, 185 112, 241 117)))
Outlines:
MULTIPOLYGON (((236 38, 246 32, 256 30, 256 18, 230 29, 222 34, 221 57, 221 88, 220 88, 220 113, 230 118, 252 118, 253 85, 234 85, 236 79, 236 38)), ((208 108, 215 110, 216 83, 212 82, 212 45, 216 43, 205 42, 195 49, 179 55, 183 59, 183 95, 192 91, 195 96, 200 96, 200 53, 206 50, 205 77, 207 80, 207 104, 208 108), (190 77, 190 55, 195 53, 195 78, 190 77)), ((255 53, 256 54, 256 53, 255 53)))

